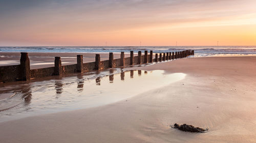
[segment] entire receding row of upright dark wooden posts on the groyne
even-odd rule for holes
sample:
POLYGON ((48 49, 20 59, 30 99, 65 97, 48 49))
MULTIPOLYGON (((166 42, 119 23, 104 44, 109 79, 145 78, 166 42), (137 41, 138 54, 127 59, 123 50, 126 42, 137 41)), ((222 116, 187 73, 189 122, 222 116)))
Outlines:
MULTIPOLYGON (((176 52, 164 52, 164 53, 155 53, 155 59, 153 59, 153 51, 150 51, 150 58, 148 59, 147 50, 144 51, 144 62, 143 63, 153 63, 153 62, 161 62, 166 60, 174 60, 174 59, 181 59, 186 58, 189 55, 194 55, 194 50, 184 50, 184 51, 176 51, 176 52), (158 58, 159 56, 159 58, 158 58)), ((138 63, 134 62, 134 52, 130 52, 130 65, 140 65, 142 64, 141 59, 141 51, 138 51, 138 63)), ((120 65, 124 66, 124 52, 121 52, 120 55, 120 65)), ((95 68, 94 70, 101 69, 101 62, 100 62, 100 54, 96 54, 95 56, 95 68)), ((114 68, 114 55, 113 52, 109 53, 109 67, 106 68, 114 68)), ((83 68, 83 56, 77 55, 77 64, 76 64, 76 72, 82 73, 84 72, 83 68)), ((61 58, 59 56, 55 57, 54 61, 54 73, 53 75, 62 75, 62 65, 61 65, 61 58)), ((22 52, 20 57, 20 79, 19 80, 29 80, 30 79, 30 61, 27 52, 22 52)))

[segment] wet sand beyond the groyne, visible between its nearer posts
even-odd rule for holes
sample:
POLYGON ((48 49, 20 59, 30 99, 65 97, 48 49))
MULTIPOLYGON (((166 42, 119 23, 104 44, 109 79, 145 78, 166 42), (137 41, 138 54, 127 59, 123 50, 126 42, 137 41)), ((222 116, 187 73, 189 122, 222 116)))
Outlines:
MULTIPOLYGON (((30 69, 39 69, 54 66, 54 57, 61 57, 62 65, 76 64, 76 55, 83 55, 83 63, 94 62, 96 53, 61 53, 61 52, 29 52, 30 69)), ((99 53, 100 60, 109 60, 109 53, 99 53)), ((134 56, 137 54, 135 53, 134 56)), ((129 57, 130 54, 125 54, 129 57)), ((114 53, 114 59, 120 58, 120 53, 114 53)), ((0 52, 0 66, 19 65, 19 52, 0 52)))

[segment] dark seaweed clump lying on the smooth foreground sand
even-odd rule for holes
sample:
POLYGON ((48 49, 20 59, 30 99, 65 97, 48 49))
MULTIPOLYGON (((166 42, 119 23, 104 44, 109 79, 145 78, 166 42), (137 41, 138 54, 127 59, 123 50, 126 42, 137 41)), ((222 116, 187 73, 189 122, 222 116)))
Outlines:
POLYGON ((199 132, 199 133, 204 133, 205 131, 208 130, 208 129, 202 129, 202 128, 194 127, 192 125, 187 125, 187 124, 179 125, 177 123, 174 124, 173 128, 181 131, 185 131, 185 132, 199 132))

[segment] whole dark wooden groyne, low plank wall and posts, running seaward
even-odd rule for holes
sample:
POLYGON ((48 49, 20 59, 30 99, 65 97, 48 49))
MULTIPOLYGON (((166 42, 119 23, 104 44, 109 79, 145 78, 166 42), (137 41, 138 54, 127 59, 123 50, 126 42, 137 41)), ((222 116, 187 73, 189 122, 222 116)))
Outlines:
POLYGON ((61 76, 70 73, 83 73, 93 70, 103 70, 130 65, 141 65, 153 62, 186 58, 189 55, 194 55, 194 50, 155 53, 155 58, 153 58, 152 50, 150 51, 150 54, 148 54, 147 50, 145 50, 144 55, 141 54, 141 51, 138 51, 137 56, 134 56, 134 52, 131 51, 130 57, 127 58, 124 57, 124 52, 121 52, 120 59, 114 59, 113 53, 110 52, 109 60, 100 61, 100 54, 96 54, 95 62, 83 63, 82 55, 77 55, 77 64, 66 66, 62 66, 61 58, 59 56, 56 56, 54 60, 54 67, 31 70, 28 53, 21 52, 19 65, 0 66, 0 82, 20 80, 28 81, 32 78, 42 78, 53 75, 61 76))

